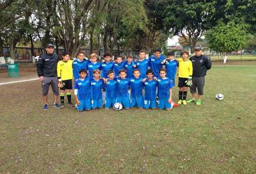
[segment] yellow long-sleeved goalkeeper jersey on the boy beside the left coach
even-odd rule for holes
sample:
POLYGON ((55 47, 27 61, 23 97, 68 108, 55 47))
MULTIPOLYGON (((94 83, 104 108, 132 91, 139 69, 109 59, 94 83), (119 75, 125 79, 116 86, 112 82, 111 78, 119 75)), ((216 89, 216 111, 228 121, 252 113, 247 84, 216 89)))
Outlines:
POLYGON ((61 80, 70 80, 73 78, 72 60, 59 61, 57 64, 57 75, 61 80))

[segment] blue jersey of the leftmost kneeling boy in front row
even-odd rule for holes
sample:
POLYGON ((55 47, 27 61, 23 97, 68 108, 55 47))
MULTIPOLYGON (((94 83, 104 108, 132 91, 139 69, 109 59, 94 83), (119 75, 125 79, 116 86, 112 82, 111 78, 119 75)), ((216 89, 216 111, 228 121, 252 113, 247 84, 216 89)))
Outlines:
POLYGON ((74 89, 77 89, 77 98, 79 100, 91 99, 90 79, 87 76, 84 79, 78 78, 75 81, 74 89))

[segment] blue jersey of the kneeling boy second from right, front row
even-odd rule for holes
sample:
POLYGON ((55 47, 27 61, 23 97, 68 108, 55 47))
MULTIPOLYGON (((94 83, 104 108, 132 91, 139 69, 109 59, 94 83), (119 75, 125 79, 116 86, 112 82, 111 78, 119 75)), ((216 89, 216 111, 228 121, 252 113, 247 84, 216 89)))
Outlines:
POLYGON ((152 100, 156 99, 156 80, 146 80, 144 82, 144 89, 145 89, 145 100, 152 100))

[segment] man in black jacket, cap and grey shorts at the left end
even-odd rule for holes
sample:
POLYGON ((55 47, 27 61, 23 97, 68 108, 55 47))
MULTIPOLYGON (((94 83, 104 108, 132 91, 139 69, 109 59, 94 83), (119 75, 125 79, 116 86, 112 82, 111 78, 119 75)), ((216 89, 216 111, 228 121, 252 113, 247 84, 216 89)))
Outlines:
POLYGON ((58 55, 54 54, 54 46, 49 43, 47 44, 46 54, 40 55, 38 62, 36 63, 36 71, 42 82, 43 100, 44 100, 44 110, 49 109, 47 94, 49 91, 49 86, 52 86, 53 92, 53 107, 60 108, 57 103, 59 88, 58 88, 58 78, 57 78, 57 63, 58 55))

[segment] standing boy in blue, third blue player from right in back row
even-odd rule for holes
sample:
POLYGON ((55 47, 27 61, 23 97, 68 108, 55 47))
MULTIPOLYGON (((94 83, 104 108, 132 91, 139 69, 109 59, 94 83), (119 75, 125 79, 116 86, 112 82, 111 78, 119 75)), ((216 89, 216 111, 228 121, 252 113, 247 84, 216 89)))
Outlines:
POLYGON ((140 69, 140 73, 141 73, 141 78, 146 78, 147 75, 147 70, 149 67, 149 59, 145 59, 146 57, 146 52, 144 50, 140 50, 140 54, 139 54, 140 59, 138 61, 136 61, 136 66, 138 69, 140 69))

